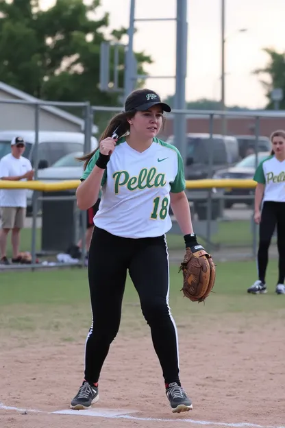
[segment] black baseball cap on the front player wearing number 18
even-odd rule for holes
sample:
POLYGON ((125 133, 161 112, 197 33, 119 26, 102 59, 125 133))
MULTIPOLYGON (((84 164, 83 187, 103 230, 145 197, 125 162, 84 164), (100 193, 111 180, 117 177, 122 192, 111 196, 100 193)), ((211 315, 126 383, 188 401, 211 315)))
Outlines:
POLYGON ((163 111, 171 112, 170 106, 163 103, 156 92, 150 89, 138 89, 130 93, 125 100, 125 112, 132 110, 145 111, 158 104, 163 111))

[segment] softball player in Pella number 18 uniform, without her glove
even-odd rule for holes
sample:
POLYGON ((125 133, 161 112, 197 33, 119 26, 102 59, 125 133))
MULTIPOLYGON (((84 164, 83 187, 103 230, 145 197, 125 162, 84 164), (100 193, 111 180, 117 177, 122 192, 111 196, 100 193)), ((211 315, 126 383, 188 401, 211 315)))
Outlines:
POLYGON ((99 375, 119 331, 127 270, 151 329, 171 408, 193 408, 179 380, 177 329, 169 308, 169 204, 186 245, 198 244, 184 193, 181 155, 156 138, 164 111, 171 108, 157 93, 134 91, 126 99, 125 112, 103 132, 99 150, 83 158, 89 162, 76 193, 79 209, 92 206, 100 188, 102 193, 88 259, 92 326, 84 381, 71 402, 73 409, 86 409, 99 400, 99 375), (114 130, 121 138, 111 138, 114 130))

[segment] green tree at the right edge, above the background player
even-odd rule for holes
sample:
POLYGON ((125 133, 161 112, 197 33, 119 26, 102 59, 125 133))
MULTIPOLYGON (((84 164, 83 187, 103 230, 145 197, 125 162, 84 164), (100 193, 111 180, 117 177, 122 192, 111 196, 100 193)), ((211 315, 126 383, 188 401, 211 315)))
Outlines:
MULTIPOLYGON (((264 91, 266 93, 268 103, 266 108, 272 110, 274 108, 274 102, 271 99, 271 91, 274 88, 282 88, 285 95, 285 52, 278 53, 274 49, 265 48, 263 49, 269 56, 269 60, 264 69, 257 69, 253 71, 253 74, 264 75, 267 80, 260 80, 264 91)), ((285 99, 283 97, 280 102, 280 108, 285 108, 285 99)))

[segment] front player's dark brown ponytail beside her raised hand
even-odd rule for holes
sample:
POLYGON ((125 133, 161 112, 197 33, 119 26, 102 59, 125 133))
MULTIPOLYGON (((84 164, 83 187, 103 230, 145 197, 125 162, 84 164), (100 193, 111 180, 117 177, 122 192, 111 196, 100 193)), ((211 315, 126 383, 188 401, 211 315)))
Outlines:
MULTIPOLYGON (((121 136, 124 136, 125 134, 127 134, 127 132, 129 131, 129 122, 127 121, 127 119, 131 119, 132 117, 134 117, 135 115, 135 111, 134 112, 121 112, 118 113, 118 115, 115 115, 114 117, 112 117, 112 119, 110 119, 106 129, 102 132, 100 139, 99 139, 99 143, 108 138, 108 136, 112 136, 112 134, 114 134, 114 131, 116 130, 116 134, 118 134, 119 138, 121 138, 121 136)), ((84 154, 83 156, 79 157, 79 158, 75 158, 77 160, 82 160, 84 161, 84 170, 86 169, 90 159, 92 158, 92 156, 94 156, 94 154, 97 152, 97 150, 99 150, 99 145, 97 147, 97 149, 93 150, 93 152, 90 152, 88 154, 84 154)))

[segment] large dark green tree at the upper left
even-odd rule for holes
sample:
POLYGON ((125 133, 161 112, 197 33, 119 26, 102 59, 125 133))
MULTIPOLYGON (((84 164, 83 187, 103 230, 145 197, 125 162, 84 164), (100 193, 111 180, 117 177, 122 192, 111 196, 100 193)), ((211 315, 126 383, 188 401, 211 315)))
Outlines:
MULTIPOLYGON (((109 15, 98 19, 99 6, 100 0, 88 5, 57 0, 43 11, 38 0, 0 0, 0 80, 41 99, 120 106, 118 93, 99 89, 100 45, 121 40, 127 30, 115 29, 107 38, 109 15)), ((151 58, 144 52, 135 55, 138 73, 145 74, 143 67, 151 58)), ((123 56, 122 47, 121 64, 123 56)), ((122 65, 121 87, 123 73, 122 65)))

